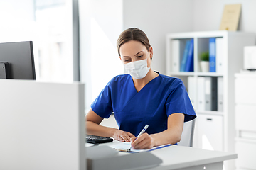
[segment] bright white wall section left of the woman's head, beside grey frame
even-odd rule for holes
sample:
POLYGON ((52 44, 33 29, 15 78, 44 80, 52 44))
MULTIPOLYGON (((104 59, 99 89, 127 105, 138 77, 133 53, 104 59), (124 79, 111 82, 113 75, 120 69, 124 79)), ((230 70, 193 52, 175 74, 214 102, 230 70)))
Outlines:
POLYGON ((85 82, 85 106, 112 77, 123 73, 116 50, 123 30, 122 1, 80 0, 80 79, 85 82))

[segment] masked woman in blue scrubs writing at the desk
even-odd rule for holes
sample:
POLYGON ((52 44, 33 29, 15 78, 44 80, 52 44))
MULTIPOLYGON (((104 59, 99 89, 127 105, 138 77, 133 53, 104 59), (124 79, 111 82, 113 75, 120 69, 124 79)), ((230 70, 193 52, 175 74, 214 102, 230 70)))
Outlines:
POLYGON ((92 103, 85 117, 87 134, 131 141, 135 149, 176 144, 183 123, 196 118, 183 82, 151 69, 153 48, 138 28, 119 35, 117 51, 129 74, 110 80, 92 103), (100 125, 112 113, 119 129, 100 125), (145 125, 149 128, 137 137, 145 125))

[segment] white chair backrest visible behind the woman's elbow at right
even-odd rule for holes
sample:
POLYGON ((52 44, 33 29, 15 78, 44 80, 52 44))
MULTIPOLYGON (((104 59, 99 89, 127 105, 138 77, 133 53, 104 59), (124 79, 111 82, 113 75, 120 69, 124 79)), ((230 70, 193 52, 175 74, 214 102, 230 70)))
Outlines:
POLYGON ((178 145, 193 147, 193 133, 195 128, 195 121, 196 119, 193 119, 189 122, 184 123, 181 141, 178 142, 178 145))

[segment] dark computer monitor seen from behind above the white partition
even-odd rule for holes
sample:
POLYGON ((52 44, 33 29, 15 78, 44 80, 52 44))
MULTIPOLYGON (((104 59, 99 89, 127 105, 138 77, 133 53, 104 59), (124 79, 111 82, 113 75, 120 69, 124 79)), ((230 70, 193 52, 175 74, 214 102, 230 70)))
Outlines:
POLYGON ((36 79, 32 41, 0 43, 0 79, 36 79))

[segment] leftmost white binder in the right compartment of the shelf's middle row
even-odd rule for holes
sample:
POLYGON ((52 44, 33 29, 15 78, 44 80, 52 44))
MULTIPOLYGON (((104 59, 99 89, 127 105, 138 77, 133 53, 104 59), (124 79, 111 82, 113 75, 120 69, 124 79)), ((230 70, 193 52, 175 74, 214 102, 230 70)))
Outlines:
POLYGON ((198 111, 204 111, 206 108, 206 99, 205 99, 205 77, 198 77, 198 111))

